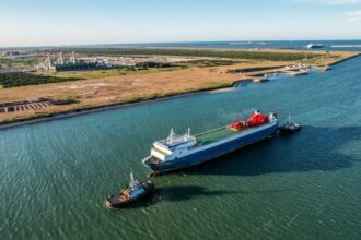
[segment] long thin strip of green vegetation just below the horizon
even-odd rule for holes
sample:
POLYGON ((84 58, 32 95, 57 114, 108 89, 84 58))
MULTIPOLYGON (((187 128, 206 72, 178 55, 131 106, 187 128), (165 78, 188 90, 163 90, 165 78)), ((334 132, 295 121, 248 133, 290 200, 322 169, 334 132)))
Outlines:
MULTIPOLYGON (((302 52, 271 52, 246 50, 208 50, 208 49, 165 49, 165 48, 57 48, 55 51, 85 53, 89 56, 183 56, 183 57, 209 57, 232 59, 255 59, 270 61, 295 61, 305 58, 302 52)), ((314 58, 321 53, 308 53, 307 58, 314 58)))

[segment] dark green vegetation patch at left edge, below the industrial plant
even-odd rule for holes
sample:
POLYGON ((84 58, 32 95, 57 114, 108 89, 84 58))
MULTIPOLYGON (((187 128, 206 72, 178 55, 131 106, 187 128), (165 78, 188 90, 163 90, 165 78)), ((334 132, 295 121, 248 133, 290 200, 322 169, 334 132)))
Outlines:
POLYGON ((3 73, 0 74, 0 88, 38 85, 46 83, 59 83, 59 82, 68 82, 68 81, 77 81, 77 80, 82 80, 82 79, 36 75, 31 73, 3 73))

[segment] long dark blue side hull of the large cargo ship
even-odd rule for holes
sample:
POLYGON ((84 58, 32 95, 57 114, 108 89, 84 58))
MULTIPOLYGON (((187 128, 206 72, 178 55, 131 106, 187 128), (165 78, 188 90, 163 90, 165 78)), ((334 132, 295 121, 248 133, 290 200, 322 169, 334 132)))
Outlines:
POLYGON ((149 163, 149 167, 158 173, 175 171, 184 168, 197 166, 214 158, 221 157, 231 152, 241 149, 247 145, 259 142, 264 139, 273 136, 277 133, 277 124, 271 124, 260 131, 249 133, 246 135, 240 134, 237 137, 232 137, 229 141, 220 141, 207 148, 191 153, 187 156, 177 158, 175 160, 163 161, 160 164, 149 163))

